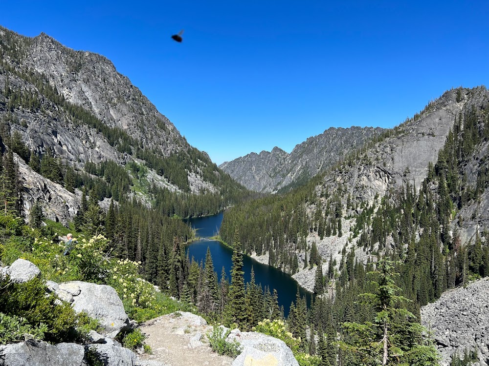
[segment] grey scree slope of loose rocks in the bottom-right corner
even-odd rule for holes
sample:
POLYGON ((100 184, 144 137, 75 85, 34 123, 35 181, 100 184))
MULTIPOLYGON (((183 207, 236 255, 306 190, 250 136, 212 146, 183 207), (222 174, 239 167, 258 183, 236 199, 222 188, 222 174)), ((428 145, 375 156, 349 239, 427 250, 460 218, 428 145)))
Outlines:
POLYGON ((489 278, 445 292, 422 307, 421 318, 433 332, 440 365, 448 366, 455 354, 463 356, 466 349, 477 351, 476 365, 489 365, 489 278))

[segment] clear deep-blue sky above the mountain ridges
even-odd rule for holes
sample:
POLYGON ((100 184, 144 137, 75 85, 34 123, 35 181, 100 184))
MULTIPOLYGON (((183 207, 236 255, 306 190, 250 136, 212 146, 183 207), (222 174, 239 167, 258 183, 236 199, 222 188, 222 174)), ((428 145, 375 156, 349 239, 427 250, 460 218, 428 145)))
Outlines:
POLYGON ((393 127, 447 89, 489 86, 487 0, 0 5, 11 30, 109 58, 216 163, 330 126, 393 127))

